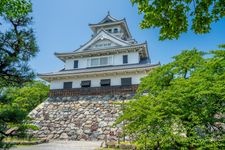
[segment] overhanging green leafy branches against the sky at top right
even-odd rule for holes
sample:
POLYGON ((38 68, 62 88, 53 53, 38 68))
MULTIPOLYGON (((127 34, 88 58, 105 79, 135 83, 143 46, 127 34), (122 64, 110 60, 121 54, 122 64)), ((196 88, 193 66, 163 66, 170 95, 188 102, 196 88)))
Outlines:
POLYGON ((208 33, 213 22, 225 16, 224 0, 131 0, 144 14, 141 28, 160 28, 160 40, 178 38, 191 29, 196 34, 208 33))

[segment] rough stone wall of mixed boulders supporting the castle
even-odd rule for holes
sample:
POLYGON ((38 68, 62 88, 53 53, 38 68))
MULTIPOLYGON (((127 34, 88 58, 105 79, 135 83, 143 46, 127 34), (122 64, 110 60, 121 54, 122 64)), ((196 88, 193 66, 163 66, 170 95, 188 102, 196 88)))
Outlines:
POLYGON ((30 116, 40 130, 39 138, 61 140, 117 140, 121 126, 112 126, 124 100, 132 94, 105 96, 51 97, 30 116))

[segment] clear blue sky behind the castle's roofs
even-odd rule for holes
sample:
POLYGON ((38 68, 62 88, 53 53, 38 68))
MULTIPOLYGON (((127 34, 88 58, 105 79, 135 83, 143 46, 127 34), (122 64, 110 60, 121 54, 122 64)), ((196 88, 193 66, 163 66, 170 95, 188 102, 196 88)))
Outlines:
POLYGON ((61 70, 63 62, 54 52, 72 52, 86 43, 92 34, 88 24, 99 22, 108 11, 117 19, 126 18, 138 42, 148 42, 152 63, 168 63, 172 56, 185 49, 209 51, 225 43, 225 19, 213 23, 209 34, 195 35, 189 31, 179 40, 159 41, 158 29, 139 28, 142 15, 129 0, 32 0, 32 3, 33 27, 40 52, 30 65, 36 73, 61 70))

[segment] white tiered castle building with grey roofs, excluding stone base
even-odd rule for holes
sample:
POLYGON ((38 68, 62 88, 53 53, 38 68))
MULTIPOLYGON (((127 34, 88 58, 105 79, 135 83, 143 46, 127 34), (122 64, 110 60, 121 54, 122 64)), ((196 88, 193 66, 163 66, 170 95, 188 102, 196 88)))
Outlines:
POLYGON ((72 52, 55 53, 65 63, 58 72, 39 74, 50 82, 50 96, 134 93, 151 64, 147 43, 132 38, 125 19, 109 13, 89 24, 91 39, 72 52))

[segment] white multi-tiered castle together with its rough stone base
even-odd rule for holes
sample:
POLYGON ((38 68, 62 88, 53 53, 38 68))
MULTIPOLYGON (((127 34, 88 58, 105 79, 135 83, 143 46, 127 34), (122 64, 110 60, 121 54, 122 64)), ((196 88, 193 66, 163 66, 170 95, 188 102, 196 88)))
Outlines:
POLYGON ((50 83, 49 98, 30 116, 39 138, 117 140, 121 125, 113 123, 124 100, 135 94, 140 79, 159 64, 151 64, 147 43, 137 43, 125 19, 109 13, 89 24, 92 38, 78 49, 55 53, 65 63, 58 72, 39 74, 50 83))

